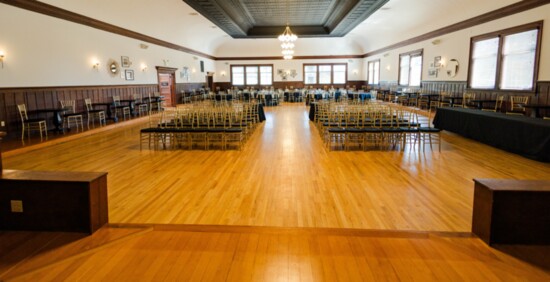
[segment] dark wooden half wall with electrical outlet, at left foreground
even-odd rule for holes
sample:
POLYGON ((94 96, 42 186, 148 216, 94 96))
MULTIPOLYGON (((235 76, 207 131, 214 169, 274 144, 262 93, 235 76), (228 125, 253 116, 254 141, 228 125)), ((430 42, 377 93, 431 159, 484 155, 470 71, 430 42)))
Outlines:
POLYGON ((86 232, 109 221, 106 172, 4 170, 0 230, 86 232))

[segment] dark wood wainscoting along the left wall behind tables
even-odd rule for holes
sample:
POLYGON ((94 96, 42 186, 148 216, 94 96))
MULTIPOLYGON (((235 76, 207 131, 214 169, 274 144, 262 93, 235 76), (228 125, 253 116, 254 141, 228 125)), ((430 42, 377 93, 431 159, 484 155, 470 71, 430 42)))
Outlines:
MULTIPOLYGON (((14 136, 21 133, 18 104, 25 104, 27 110, 32 111, 57 108, 60 100, 75 100, 76 111, 86 112, 85 98, 91 98, 94 103, 108 103, 113 101, 113 95, 133 99, 134 93, 147 96, 157 91, 157 84, 0 88, 0 120, 6 122, 3 130, 14 136)), ((46 120, 51 123, 50 118, 46 120)), ((48 124, 48 128, 53 127, 48 124)))

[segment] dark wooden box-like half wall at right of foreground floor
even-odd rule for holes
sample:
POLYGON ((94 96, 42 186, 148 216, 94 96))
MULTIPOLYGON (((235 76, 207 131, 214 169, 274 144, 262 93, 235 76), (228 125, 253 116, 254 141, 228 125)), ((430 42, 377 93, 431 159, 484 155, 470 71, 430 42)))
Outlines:
POLYGON ((487 244, 550 244, 550 181, 474 179, 472 233, 487 244))

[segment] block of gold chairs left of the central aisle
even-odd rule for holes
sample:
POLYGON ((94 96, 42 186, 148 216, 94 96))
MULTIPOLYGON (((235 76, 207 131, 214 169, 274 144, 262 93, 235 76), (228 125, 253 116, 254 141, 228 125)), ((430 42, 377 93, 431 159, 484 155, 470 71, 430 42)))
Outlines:
POLYGON ((259 122, 257 103, 187 104, 149 116, 149 127, 140 131, 140 150, 204 148, 241 149, 259 122))

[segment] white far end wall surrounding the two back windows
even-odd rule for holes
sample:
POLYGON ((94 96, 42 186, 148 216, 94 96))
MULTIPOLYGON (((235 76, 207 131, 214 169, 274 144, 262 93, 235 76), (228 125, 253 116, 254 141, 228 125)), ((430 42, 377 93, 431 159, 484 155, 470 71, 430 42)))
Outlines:
POLYGON ((346 63, 348 65, 348 80, 361 80, 363 77, 363 59, 319 59, 319 60, 245 60, 245 61, 216 61, 215 82, 230 82, 231 65, 254 65, 254 64, 273 64, 273 80, 283 81, 281 76, 277 75, 277 70, 296 70, 297 76, 288 77, 286 81, 303 81, 303 65, 320 63, 346 63), (225 76, 223 75, 225 74, 225 76))

